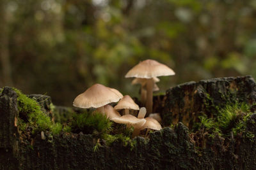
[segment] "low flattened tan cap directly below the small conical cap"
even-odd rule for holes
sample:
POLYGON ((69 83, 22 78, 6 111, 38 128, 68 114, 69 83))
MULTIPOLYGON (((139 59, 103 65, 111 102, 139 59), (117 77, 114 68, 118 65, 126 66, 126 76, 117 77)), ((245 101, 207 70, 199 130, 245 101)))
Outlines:
POLYGON ((136 118, 132 115, 124 115, 122 117, 112 118, 112 120, 118 124, 132 125, 134 128, 140 128, 146 122, 145 118, 136 118))

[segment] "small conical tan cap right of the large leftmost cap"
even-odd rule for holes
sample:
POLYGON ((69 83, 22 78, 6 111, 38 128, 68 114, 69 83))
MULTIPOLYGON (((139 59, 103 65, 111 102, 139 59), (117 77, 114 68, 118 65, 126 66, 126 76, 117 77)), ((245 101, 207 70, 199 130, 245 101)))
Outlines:
POLYGON ((122 110, 122 109, 131 109, 131 110, 140 110, 138 104, 134 103, 132 98, 129 95, 125 95, 118 104, 115 106, 115 110, 122 110))

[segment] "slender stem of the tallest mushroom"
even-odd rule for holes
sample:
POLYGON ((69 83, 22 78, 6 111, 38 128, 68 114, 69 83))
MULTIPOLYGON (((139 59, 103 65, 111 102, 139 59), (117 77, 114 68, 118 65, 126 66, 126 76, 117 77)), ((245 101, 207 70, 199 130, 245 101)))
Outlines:
POLYGON ((152 108, 153 108, 153 87, 154 87, 153 78, 148 78, 146 86, 147 86, 146 108, 147 108, 147 115, 148 115, 149 113, 152 113, 152 108))

